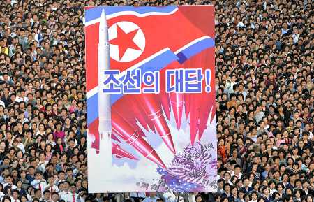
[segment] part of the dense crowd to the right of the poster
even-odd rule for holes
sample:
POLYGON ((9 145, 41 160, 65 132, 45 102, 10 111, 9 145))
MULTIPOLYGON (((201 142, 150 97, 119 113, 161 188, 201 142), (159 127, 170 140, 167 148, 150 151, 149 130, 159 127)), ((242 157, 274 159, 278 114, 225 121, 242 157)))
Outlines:
POLYGON ((215 7, 214 200, 312 202, 312 4, 219 1, 215 7))

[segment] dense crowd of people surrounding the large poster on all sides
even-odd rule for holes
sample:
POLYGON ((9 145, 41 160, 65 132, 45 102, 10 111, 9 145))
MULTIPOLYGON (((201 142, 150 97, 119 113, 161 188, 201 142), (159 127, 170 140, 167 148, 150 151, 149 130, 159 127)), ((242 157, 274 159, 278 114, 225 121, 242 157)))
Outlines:
POLYGON ((2 202, 313 202, 311 1, 3 0, 2 202), (217 193, 87 194, 84 6, 212 4, 217 193))

